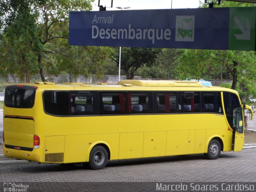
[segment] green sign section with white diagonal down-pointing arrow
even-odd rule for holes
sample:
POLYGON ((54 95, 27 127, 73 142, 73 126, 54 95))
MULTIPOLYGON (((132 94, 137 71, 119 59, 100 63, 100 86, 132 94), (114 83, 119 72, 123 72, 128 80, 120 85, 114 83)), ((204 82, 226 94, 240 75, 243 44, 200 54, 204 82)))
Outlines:
POLYGON ((256 8, 230 8, 229 50, 255 50, 256 8))

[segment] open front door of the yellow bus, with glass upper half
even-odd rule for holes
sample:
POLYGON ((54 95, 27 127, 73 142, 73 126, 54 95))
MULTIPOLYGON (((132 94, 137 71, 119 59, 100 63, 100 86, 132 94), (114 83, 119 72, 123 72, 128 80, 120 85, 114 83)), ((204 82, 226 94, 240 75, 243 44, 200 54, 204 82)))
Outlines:
POLYGON ((241 107, 233 109, 232 151, 240 151, 244 147, 244 119, 241 107))

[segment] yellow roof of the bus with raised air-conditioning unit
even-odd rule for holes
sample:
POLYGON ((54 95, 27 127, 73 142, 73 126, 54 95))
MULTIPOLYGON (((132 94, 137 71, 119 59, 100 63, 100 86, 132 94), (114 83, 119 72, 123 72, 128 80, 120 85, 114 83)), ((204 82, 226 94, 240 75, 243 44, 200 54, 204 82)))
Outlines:
MULTIPOLYGON (((168 80, 121 80, 117 84, 83 84, 64 83, 54 84, 53 82, 16 83, 12 85, 34 86, 38 90, 122 90, 122 91, 226 91, 238 94, 235 90, 216 86, 202 86, 200 82, 194 81, 168 81, 168 80)), ((11 85, 10 85, 11 86, 11 85)))

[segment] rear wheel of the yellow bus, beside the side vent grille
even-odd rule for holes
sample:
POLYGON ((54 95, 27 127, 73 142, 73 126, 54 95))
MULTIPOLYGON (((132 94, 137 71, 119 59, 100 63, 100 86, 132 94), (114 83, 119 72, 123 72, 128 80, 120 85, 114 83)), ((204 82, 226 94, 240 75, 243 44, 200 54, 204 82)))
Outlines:
POLYGON ((94 147, 90 152, 88 166, 94 170, 103 169, 108 162, 108 152, 102 146, 94 147))

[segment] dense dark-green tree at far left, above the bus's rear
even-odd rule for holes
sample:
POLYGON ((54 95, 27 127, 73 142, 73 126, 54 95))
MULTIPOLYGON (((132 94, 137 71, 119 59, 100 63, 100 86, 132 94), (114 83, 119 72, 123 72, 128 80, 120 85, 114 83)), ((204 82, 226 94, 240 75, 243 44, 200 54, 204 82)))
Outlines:
POLYGON ((0 2, 0 30, 2 30, 1 50, 2 72, 19 74, 26 82, 34 74, 36 54, 39 50, 38 36, 36 34, 36 18, 38 13, 32 12, 37 6, 43 4, 39 1, 3 0, 0 2))

